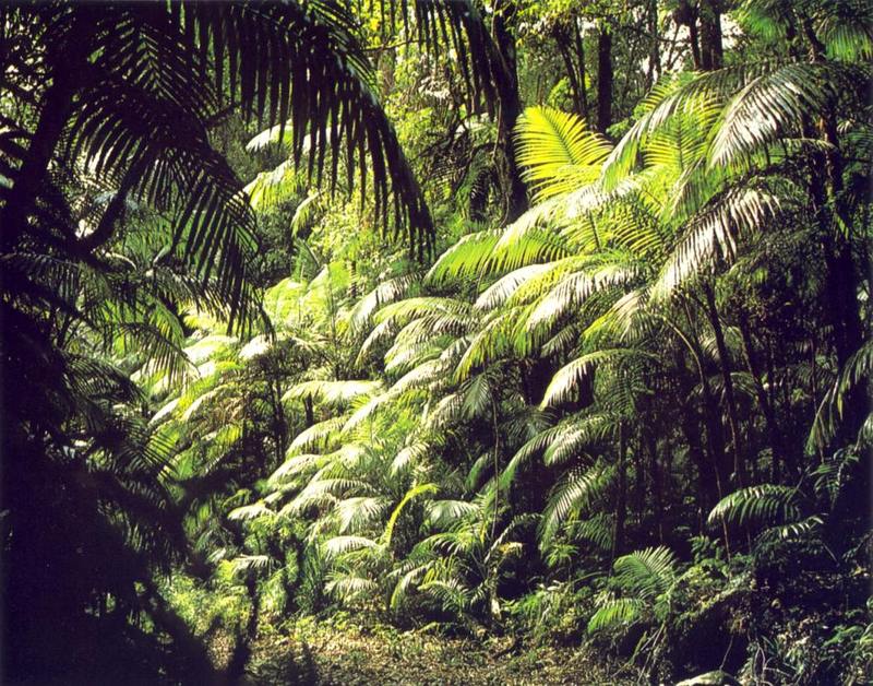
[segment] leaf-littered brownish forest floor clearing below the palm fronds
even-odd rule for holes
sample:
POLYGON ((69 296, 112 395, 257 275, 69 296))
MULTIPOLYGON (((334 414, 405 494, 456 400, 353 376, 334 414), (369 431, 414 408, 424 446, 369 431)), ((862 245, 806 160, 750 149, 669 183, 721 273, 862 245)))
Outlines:
POLYGON ((354 622, 301 622, 260 636, 248 684, 631 684, 579 648, 518 647, 512 637, 454 638, 354 622))

